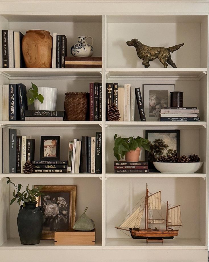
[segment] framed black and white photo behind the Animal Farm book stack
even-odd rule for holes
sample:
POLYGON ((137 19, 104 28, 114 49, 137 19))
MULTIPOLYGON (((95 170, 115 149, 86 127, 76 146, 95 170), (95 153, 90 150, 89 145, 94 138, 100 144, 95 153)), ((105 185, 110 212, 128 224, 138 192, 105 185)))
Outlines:
POLYGON ((160 109, 170 106, 174 84, 144 84, 144 112, 147 121, 160 121, 160 109))

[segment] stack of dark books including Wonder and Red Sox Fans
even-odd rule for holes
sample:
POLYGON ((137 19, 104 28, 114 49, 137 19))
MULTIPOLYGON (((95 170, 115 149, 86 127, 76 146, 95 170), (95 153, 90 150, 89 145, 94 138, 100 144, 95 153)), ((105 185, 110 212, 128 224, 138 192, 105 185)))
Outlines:
POLYGON ((32 161, 34 173, 67 173, 67 160, 32 161))

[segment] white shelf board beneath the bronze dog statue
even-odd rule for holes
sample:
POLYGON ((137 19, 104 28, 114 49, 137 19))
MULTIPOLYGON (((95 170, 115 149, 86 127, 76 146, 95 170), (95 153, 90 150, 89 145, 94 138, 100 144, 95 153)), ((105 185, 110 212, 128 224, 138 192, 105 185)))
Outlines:
POLYGON ((107 78, 132 77, 165 77, 165 78, 194 78, 201 79, 207 74, 207 68, 107 68, 107 78))

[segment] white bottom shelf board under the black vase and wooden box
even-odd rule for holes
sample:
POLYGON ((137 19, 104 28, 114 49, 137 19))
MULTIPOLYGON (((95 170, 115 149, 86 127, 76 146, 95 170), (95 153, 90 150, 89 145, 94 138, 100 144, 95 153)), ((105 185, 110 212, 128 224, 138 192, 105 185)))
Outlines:
POLYGON ((7 241, 5 241, 1 246, 0 250, 4 249, 10 249, 10 250, 16 250, 16 249, 33 249, 33 250, 39 250, 39 249, 100 249, 102 247, 101 241, 96 241, 95 245, 54 245, 53 240, 41 240, 39 244, 37 245, 22 245, 20 243, 19 238, 9 238, 7 241))

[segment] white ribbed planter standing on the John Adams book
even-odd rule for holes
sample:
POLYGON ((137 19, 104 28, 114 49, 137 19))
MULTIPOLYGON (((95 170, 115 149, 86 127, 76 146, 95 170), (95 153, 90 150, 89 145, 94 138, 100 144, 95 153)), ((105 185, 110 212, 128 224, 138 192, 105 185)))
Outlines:
POLYGON ((38 87, 38 94, 41 94, 44 97, 43 104, 34 100, 35 110, 55 110, 57 102, 57 88, 53 87, 38 87))

